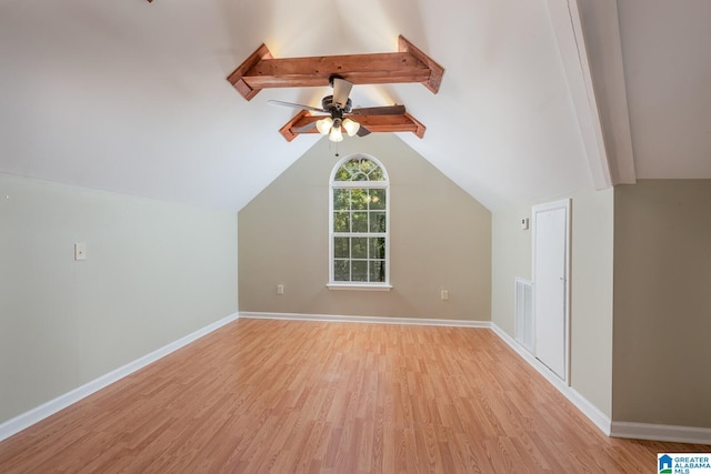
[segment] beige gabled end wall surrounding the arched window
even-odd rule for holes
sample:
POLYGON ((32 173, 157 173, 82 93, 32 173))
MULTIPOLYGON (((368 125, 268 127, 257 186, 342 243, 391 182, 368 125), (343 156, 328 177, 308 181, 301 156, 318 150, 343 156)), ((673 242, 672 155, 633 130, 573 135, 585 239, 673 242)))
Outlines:
POLYGON ((336 150, 319 141, 240 211, 240 311, 489 321, 491 213, 395 135, 338 145, 341 157, 377 158, 390 175, 393 288, 327 288, 336 150))

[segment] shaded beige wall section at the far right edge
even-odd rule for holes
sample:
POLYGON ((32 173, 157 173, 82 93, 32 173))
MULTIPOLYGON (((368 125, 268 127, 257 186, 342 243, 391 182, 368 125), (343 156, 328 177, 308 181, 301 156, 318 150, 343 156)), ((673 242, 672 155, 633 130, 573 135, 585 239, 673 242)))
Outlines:
POLYGON ((617 422, 711 427, 711 180, 615 188, 617 422))

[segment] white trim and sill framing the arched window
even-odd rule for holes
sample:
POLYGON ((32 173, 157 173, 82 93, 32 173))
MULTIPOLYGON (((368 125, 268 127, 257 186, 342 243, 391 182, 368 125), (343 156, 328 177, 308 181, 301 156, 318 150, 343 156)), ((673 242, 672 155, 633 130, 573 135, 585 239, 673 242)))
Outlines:
MULTIPOLYGON (((329 181, 329 290, 351 290, 351 291, 390 291, 390 177, 385 167, 374 157, 365 153, 353 153, 342 158, 331 170, 331 179, 329 181), (336 173, 349 160, 354 158, 364 158, 378 164, 382 170, 384 181, 336 181, 336 173), (333 280, 333 190, 347 188, 380 188, 385 190, 385 281, 384 282, 337 282, 333 280)), ((368 236, 363 234, 363 236, 368 236)))

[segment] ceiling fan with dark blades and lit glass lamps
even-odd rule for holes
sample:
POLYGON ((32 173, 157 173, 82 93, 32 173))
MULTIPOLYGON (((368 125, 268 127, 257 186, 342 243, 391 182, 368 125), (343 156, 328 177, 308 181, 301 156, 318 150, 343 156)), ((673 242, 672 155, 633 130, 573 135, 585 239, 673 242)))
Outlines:
POLYGON ((390 105, 390 107, 370 107, 352 109, 352 101, 349 98, 353 84, 340 75, 331 75, 329 78, 329 84, 333 88, 333 94, 327 95, 321 100, 321 108, 302 105, 299 103, 282 102, 280 100, 270 100, 269 103, 276 105, 291 107, 294 109, 301 109, 309 112, 323 113, 323 119, 310 122, 303 127, 294 129, 297 133, 307 133, 314 127, 321 134, 328 134, 329 140, 332 142, 340 142, 343 140, 343 131, 349 137, 358 134, 364 137, 370 133, 363 124, 358 120, 358 115, 362 118, 367 115, 404 115, 404 105, 390 105), (353 120, 356 118, 356 120, 353 120))

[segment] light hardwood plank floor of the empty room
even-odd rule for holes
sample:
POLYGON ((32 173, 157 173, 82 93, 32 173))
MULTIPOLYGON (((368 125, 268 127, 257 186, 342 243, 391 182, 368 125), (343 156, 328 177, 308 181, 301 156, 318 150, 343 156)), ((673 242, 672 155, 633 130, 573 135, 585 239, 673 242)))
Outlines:
POLYGON ((493 332, 238 320, 0 443, 1 473, 631 473, 493 332))

